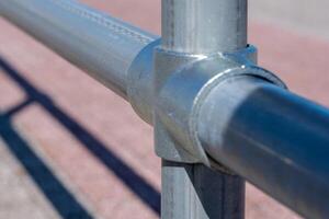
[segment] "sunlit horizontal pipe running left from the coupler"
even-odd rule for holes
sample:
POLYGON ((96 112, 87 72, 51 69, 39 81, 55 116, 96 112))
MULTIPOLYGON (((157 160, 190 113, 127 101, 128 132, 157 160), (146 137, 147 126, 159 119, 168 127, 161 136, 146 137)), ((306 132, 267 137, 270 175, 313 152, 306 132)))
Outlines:
POLYGON ((0 0, 0 15, 124 99, 127 69, 157 38, 73 0, 0 0))

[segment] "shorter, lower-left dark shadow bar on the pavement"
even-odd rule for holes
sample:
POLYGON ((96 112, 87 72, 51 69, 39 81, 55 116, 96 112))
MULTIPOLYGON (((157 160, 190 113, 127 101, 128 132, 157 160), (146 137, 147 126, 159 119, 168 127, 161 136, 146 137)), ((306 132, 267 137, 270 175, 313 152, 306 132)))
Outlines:
POLYGON ((0 137, 63 218, 92 218, 14 130, 10 117, 3 114, 0 114, 0 137))

